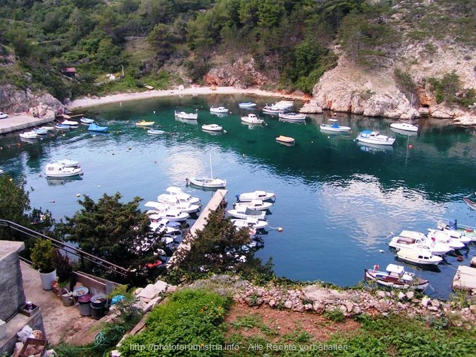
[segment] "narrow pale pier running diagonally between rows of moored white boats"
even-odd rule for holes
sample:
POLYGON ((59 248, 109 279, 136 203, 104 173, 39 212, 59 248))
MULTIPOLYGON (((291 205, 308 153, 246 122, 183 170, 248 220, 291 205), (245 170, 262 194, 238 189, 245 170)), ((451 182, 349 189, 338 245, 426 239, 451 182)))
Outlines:
POLYGON ((212 211, 216 211, 217 208, 220 207, 222 202, 225 200, 226 194, 226 189, 218 189, 211 200, 208 201, 206 207, 201 211, 199 218, 195 221, 194 225, 192 225, 192 228, 190 228, 189 232, 182 239, 182 242, 177 246, 177 249, 175 249, 175 252, 165 265, 168 269, 177 268, 184 256, 186 256, 190 249, 192 249, 192 243, 194 242, 196 232, 205 228, 206 218, 208 218, 208 215, 210 215, 212 211))

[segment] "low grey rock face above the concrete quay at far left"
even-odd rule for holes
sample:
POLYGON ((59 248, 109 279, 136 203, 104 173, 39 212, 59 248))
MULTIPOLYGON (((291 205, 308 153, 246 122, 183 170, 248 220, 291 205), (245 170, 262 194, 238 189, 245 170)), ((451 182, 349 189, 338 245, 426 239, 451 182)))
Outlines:
POLYGON ((0 103, 0 110, 6 113, 22 113, 39 106, 52 109, 61 107, 61 101, 49 93, 33 93, 30 89, 21 90, 11 84, 0 86, 0 103))

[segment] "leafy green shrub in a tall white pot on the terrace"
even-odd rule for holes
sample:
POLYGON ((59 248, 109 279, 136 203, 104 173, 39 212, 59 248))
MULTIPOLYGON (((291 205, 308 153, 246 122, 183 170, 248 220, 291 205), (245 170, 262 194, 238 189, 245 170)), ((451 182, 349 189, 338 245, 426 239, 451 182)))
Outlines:
POLYGON ((51 290, 51 283, 56 281, 56 250, 49 239, 38 239, 30 253, 33 266, 39 270, 45 290, 51 290))

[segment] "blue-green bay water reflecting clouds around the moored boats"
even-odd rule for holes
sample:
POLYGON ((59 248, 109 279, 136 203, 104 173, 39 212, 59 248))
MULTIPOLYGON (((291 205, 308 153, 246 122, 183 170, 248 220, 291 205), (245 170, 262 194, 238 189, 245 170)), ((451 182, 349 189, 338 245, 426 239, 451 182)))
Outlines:
MULTIPOLYGON (((98 199, 120 192, 125 201, 139 196, 156 200, 170 185, 207 201, 213 192, 185 186, 185 179, 213 175, 227 179, 229 208, 235 194, 255 189, 274 191, 271 227, 257 252, 273 257, 277 275, 296 280, 323 280, 352 285, 363 279, 364 268, 394 262, 387 236, 403 229, 426 231, 439 218, 476 226, 476 211, 463 196, 476 189, 476 139, 472 129, 453 127, 447 120, 418 120, 418 136, 389 129, 391 120, 330 113, 309 115, 305 125, 282 123, 254 111, 268 125, 249 127, 239 117, 250 111, 239 101, 256 101, 261 108, 276 99, 252 96, 187 96, 130 101, 84 112, 108 134, 91 134, 87 127, 56 134, 34 144, 18 134, 0 139, 0 168, 25 175, 32 188, 32 206, 48 208, 55 218, 80 208, 78 194, 98 199), (210 106, 226 106, 230 115, 218 117, 210 106), (174 119, 174 110, 199 110, 198 125, 174 119), (352 127, 349 135, 320 132, 319 123, 338 118, 352 127), (165 135, 149 135, 137 120, 154 120, 165 135), (226 133, 211 135, 201 125, 217 123, 226 133), (354 142, 360 130, 395 134, 392 149, 380 150, 354 142), (275 142, 278 135, 294 137, 294 146, 275 142), (20 144, 20 145, 18 145, 20 144), (60 158, 80 161, 82 180, 46 180, 44 166, 60 158), (380 251, 383 251, 381 253, 380 251)), ((253 112, 253 111, 251 111, 253 112)), ((469 265, 475 246, 462 251, 469 265)), ((407 268, 430 280, 427 293, 447 297, 458 263, 456 256, 437 271, 407 268)))

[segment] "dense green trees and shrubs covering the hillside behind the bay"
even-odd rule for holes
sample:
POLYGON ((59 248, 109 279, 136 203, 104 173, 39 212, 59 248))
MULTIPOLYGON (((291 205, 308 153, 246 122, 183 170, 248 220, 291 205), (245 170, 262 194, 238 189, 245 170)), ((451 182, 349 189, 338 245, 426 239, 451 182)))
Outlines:
MULTIPOLYGON (((311 92, 335 64, 328 50, 335 40, 353 61, 372 67, 403 33, 421 42, 451 37, 474 44, 474 15, 469 0, 425 6, 390 0, 4 0, 0 84, 46 89, 63 100, 200 82, 213 66, 244 58, 253 59, 270 85, 311 92), (392 17, 397 11, 399 21, 392 17), (79 77, 61 75, 68 67, 79 77), (111 82, 108 73, 122 78, 111 82)), ((242 80, 251 84, 253 78, 242 80)))

